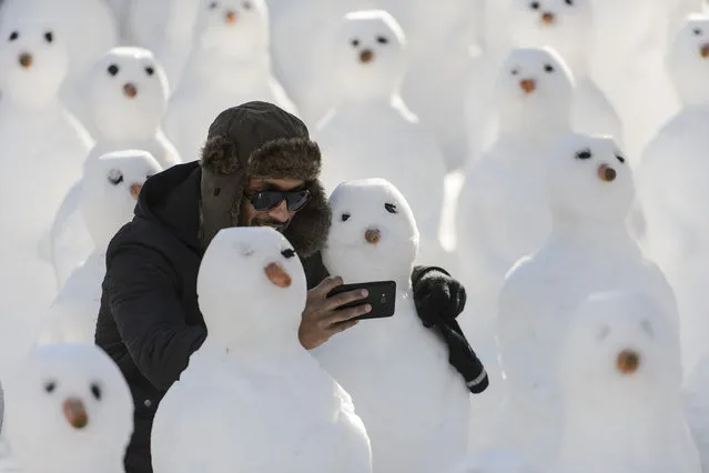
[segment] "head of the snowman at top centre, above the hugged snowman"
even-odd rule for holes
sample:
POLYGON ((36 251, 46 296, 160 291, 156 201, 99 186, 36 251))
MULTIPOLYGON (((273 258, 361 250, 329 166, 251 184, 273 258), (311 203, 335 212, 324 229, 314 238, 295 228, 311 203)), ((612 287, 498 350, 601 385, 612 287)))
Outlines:
POLYGON ((383 10, 347 13, 333 46, 335 88, 344 100, 391 98, 406 71, 406 40, 383 10))

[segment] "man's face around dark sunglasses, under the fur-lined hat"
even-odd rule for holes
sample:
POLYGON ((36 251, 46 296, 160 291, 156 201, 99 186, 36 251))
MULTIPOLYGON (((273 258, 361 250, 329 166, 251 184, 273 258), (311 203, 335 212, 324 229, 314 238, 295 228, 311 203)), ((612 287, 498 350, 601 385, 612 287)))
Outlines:
POLYGON ((305 185, 300 179, 269 179, 269 178, 251 178, 246 188, 245 197, 241 204, 239 215, 241 227, 272 227, 283 232, 291 223, 291 219, 296 212, 288 210, 285 199, 276 207, 259 211, 254 209, 249 200, 249 195, 259 191, 297 191, 305 185))

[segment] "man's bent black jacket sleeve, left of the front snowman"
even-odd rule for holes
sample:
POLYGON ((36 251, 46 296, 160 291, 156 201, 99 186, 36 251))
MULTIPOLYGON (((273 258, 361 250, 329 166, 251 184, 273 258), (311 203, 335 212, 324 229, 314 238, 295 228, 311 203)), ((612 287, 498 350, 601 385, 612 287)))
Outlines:
POLYGON ((109 303, 123 343, 140 372, 166 391, 206 338, 188 325, 168 261, 156 250, 123 245, 107 261, 109 303))

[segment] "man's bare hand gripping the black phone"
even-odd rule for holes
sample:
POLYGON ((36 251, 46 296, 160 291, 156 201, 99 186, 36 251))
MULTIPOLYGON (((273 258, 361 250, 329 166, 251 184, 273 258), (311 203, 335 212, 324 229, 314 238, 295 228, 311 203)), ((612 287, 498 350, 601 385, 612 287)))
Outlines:
POLYGON ((307 302, 298 329, 298 339, 306 350, 313 350, 335 333, 356 325, 359 321, 351 319, 364 315, 372 310, 369 304, 364 304, 337 311, 338 306, 359 301, 368 294, 366 290, 357 290, 343 292, 328 299, 330 291, 342 283, 342 278, 327 278, 307 292, 307 302))

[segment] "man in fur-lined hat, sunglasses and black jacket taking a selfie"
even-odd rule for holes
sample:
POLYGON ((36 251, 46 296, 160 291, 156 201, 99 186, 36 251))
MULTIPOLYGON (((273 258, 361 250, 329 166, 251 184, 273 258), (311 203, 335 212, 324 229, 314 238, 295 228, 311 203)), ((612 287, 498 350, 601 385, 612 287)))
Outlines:
MULTIPOLYGON (((297 118, 264 102, 222 112, 210 127, 201 162, 175 165, 143 187, 134 219, 107 252, 95 342, 118 363, 135 403, 135 431, 128 473, 150 473, 150 431, 158 404, 206 335, 197 306, 196 275, 217 231, 270 225, 288 239, 303 260, 308 296, 300 328, 305 349, 324 343, 369 310, 344 303, 361 292, 326 294, 342 284, 320 259, 330 210, 318 182, 321 155, 297 118)), ((454 319, 465 291, 443 270, 414 272, 419 315, 454 319), (434 314, 433 312, 436 312, 434 314)), ((235 306, 234 311, 239 311, 235 306)), ((190 409, 185 405, 185 409, 190 409)))

